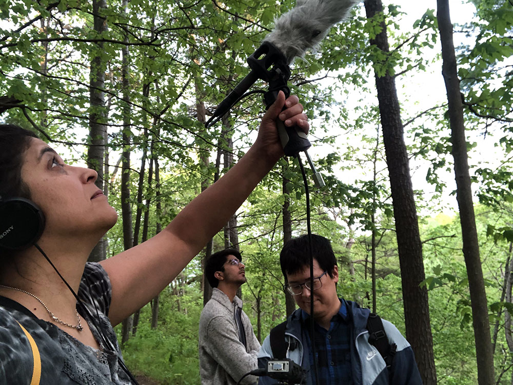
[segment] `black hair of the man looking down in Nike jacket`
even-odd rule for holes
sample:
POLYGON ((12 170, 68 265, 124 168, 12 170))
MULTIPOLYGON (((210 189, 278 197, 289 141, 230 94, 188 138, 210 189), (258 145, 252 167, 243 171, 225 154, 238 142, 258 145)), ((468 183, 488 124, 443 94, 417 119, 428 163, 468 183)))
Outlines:
MULTIPOLYGON (((295 274, 310 266, 310 248, 308 234, 289 240, 280 253, 280 265, 283 276, 287 281, 287 274, 295 274)), ((333 266, 337 265, 337 258, 331 248, 329 239, 312 234, 312 255, 319 267, 333 278, 333 266)))

